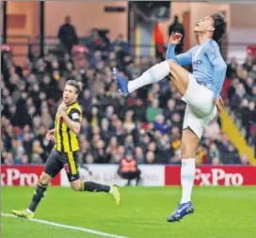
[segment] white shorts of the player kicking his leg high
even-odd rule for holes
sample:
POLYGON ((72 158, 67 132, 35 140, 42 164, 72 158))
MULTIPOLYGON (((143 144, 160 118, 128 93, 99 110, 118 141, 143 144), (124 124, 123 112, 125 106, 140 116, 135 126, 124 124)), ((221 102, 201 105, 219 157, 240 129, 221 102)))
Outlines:
POLYGON ((214 93, 189 74, 188 86, 182 100, 186 103, 184 129, 190 128, 200 138, 204 128, 216 118, 214 93))

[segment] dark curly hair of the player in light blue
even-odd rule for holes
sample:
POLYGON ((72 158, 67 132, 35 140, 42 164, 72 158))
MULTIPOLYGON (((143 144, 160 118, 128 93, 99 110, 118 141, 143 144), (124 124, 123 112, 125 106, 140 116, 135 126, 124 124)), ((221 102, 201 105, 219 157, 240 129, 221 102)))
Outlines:
POLYGON ((216 40, 218 45, 221 44, 223 35, 226 33, 227 23, 225 17, 220 13, 214 13, 212 18, 215 22, 215 31, 213 39, 216 40))

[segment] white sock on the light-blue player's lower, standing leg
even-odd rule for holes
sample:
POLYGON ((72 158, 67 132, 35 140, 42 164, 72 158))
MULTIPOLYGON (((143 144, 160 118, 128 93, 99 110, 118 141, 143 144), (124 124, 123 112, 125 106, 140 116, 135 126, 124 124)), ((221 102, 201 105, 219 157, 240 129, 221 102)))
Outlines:
POLYGON ((183 186, 183 197, 181 203, 191 200, 192 188, 196 174, 196 160, 182 159, 181 181, 183 186))

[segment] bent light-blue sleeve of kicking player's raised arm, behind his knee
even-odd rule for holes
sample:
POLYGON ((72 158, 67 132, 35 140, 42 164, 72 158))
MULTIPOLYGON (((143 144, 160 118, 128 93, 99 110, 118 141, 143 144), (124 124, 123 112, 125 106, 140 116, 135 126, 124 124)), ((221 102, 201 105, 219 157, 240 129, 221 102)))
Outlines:
POLYGON ((175 45, 168 43, 167 59, 173 59, 181 66, 190 65, 192 63, 191 49, 183 54, 175 56, 175 45))

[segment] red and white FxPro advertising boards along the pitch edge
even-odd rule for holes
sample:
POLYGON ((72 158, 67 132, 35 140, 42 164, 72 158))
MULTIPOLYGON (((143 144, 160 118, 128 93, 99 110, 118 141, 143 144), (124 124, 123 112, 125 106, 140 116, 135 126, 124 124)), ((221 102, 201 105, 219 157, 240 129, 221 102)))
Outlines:
MULTIPOLYGON (((125 185, 117 175, 118 165, 89 165, 81 167, 83 181, 125 185)), ((143 186, 180 185, 178 166, 140 165, 143 186)), ((2 166, 2 186, 35 186, 43 166, 2 166)), ((256 167, 249 166, 200 166, 197 167, 195 184, 199 186, 256 185, 256 167)), ((64 169, 53 180, 52 185, 70 186, 64 169)))

